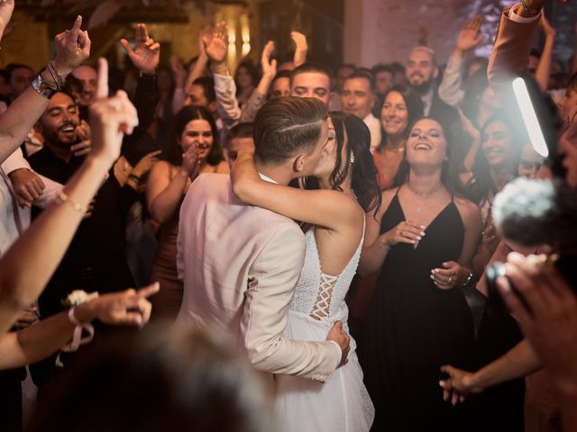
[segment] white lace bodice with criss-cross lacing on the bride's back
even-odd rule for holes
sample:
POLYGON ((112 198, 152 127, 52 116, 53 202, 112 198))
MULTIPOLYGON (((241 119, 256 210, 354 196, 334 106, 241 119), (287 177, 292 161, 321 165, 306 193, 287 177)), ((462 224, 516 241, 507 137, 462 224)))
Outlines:
POLYGON ((359 266, 362 239, 353 257, 340 275, 325 275, 321 272, 315 229, 309 229, 305 237, 307 238, 305 264, 300 272, 295 295, 290 302, 289 309, 304 313, 315 320, 325 320, 345 306, 344 296, 349 290, 357 266, 359 266))

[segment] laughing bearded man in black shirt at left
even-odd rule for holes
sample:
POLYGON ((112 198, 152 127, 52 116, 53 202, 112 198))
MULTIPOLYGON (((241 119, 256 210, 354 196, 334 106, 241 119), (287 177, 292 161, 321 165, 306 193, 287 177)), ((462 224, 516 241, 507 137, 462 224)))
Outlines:
MULTIPOLYGON (((30 157, 32 169, 60 184, 68 183, 86 158, 74 156, 71 149, 78 140, 79 123, 78 105, 72 97, 62 92, 54 94, 35 126, 45 145, 30 157)), ((60 266, 41 294, 38 302, 42 319, 64 311, 61 301, 74 290, 112 293, 134 285, 124 257, 124 215, 136 197, 133 187, 121 186, 114 175, 105 179, 90 216, 78 227, 60 266)), ((32 209, 33 216, 38 212, 32 209)), ((32 365, 32 378, 39 387, 54 374, 54 358, 32 365)))

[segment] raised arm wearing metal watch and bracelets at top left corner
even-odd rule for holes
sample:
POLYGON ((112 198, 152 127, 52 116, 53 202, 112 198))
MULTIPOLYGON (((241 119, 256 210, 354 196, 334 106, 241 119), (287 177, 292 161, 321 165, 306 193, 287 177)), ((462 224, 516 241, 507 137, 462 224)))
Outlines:
MULTIPOLYGON (((80 30, 81 25, 82 17, 78 16, 70 31, 62 31, 54 38, 56 58, 52 60, 52 65, 62 79, 90 55, 88 32, 80 30)), ((48 69, 44 69, 41 76, 50 85, 55 85, 48 69)), ((31 86, 0 116, 0 163, 23 143, 47 106, 48 99, 31 86)))

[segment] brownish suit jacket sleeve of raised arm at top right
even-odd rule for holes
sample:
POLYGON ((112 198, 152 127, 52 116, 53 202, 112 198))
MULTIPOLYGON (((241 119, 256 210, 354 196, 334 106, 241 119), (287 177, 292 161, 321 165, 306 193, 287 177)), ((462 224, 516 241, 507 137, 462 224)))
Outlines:
POLYGON ((539 20, 517 23, 509 18, 510 8, 501 14, 495 46, 490 55, 487 76, 496 94, 508 94, 511 81, 529 66, 531 43, 539 20))

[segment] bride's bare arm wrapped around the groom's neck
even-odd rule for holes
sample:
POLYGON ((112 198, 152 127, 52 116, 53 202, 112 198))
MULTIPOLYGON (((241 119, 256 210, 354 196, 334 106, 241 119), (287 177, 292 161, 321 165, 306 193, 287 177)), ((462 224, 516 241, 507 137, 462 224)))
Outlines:
POLYGON ((250 147, 239 150, 231 170, 233 191, 241 201, 327 229, 342 230, 362 222, 361 208, 344 193, 307 191, 262 180, 250 147))

